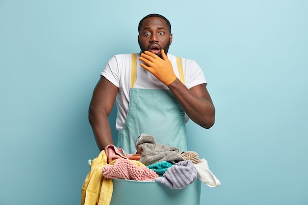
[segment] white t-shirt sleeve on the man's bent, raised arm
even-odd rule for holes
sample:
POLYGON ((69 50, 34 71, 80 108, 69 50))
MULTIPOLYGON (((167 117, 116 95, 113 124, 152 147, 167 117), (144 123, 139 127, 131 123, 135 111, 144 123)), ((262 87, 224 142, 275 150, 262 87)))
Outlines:
POLYGON ((186 60, 185 68, 185 84, 188 89, 200 84, 207 85, 204 73, 196 61, 186 60))

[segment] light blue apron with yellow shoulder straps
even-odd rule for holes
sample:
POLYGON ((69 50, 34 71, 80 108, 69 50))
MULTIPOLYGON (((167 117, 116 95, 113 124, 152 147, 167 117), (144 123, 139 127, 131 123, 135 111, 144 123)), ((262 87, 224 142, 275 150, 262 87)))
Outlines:
MULTIPOLYGON (((184 84, 181 58, 177 57, 180 80, 184 84)), ((169 89, 134 88, 137 54, 132 54, 131 85, 127 117, 118 135, 117 147, 136 153, 135 141, 142 134, 153 135, 156 143, 187 151, 185 112, 169 89)))

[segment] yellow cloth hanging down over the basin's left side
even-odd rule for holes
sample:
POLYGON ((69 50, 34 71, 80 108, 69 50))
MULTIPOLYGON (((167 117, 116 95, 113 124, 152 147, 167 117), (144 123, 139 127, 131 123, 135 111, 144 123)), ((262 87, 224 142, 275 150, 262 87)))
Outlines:
POLYGON ((106 165, 107 156, 102 150, 90 164, 91 171, 81 188, 81 205, 110 205, 113 182, 103 176, 102 168, 106 165))

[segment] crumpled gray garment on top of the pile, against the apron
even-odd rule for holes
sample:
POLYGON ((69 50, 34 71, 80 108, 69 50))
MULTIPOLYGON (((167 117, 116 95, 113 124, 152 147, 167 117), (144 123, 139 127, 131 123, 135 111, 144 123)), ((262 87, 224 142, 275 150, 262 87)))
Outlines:
POLYGON ((175 146, 157 144, 154 136, 142 133, 136 145, 137 154, 140 154, 140 161, 144 165, 152 165, 160 161, 179 162, 183 157, 175 146))

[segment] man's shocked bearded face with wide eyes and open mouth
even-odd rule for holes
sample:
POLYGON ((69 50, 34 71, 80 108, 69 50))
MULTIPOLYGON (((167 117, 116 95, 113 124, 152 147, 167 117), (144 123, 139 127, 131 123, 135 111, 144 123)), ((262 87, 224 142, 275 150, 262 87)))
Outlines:
POLYGON ((172 33, 169 32, 167 23, 160 17, 146 18, 141 25, 138 35, 141 52, 150 51, 161 58, 161 49, 168 53, 172 43, 172 33))

